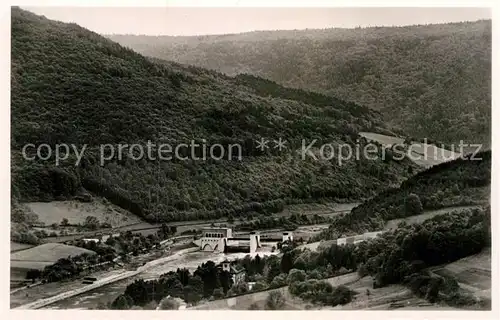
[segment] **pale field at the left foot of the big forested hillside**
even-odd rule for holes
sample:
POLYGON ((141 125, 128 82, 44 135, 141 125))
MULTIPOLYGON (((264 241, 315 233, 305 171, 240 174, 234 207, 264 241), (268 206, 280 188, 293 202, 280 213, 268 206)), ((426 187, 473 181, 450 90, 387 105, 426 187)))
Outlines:
POLYGON ((96 217, 101 223, 108 222, 113 227, 142 222, 137 216, 102 198, 94 198, 93 202, 52 201, 30 202, 26 205, 46 225, 59 224, 63 218, 68 219, 70 224, 80 224, 85 222, 87 216, 96 217))

